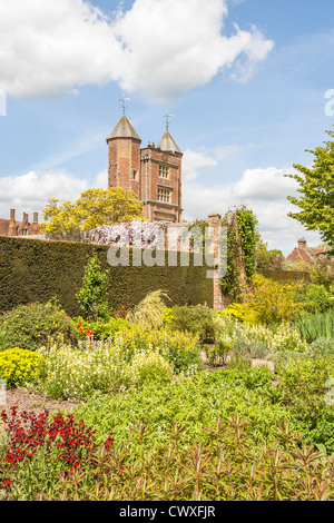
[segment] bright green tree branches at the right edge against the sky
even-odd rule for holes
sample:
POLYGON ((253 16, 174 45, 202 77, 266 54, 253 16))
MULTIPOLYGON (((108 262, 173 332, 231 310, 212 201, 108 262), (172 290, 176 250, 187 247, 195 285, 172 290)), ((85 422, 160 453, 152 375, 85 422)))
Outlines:
MULTIPOLYGON (((334 131, 326 131, 334 137, 334 131)), ((306 149, 314 155, 312 168, 298 164, 294 168, 299 172, 285 175, 299 184, 301 197, 288 196, 287 199, 299 207, 299 213, 288 216, 297 219, 308 230, 318 230, 324 243, 334 253, 334 141, 324 141, 324 147, 306 149)))

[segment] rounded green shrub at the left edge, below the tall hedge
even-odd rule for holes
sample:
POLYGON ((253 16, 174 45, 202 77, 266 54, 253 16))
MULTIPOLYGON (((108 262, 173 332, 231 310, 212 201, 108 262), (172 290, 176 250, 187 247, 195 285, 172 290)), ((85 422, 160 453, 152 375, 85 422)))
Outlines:
POLYGON ((72 345, 79 339, 67 314, 50 303, 21 305, 0 316, 0 351, 36 351, 55 337, 72 345))

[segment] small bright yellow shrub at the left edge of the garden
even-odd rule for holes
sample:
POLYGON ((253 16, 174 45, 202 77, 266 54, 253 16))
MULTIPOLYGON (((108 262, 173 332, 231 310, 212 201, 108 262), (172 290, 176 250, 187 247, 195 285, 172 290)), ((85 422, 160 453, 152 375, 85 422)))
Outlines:
POLYGON ((0 353, 0 377, 7 386, 19 386, 35 382, 40 356, 36 352, 19 347, 8 348, 0 353))

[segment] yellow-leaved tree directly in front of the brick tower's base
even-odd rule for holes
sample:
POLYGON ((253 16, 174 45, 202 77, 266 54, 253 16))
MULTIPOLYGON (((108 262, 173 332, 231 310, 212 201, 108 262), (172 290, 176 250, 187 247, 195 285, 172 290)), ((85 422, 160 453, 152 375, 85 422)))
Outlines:
POLYGON ((82 231, 101 225, 144 220, 143 203, 137 195, 120 187, 110 189, 88 189, 75 203, 50 198, 43 210, 41 225, 45 233, 53 239, 78 241, 82 231))

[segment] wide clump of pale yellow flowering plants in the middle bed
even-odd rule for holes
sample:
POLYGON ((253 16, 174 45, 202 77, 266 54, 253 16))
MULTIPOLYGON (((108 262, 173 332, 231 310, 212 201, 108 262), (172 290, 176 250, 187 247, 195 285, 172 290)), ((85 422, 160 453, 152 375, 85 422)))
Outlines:
POLYGON ((57 399, 116 394, 199 367, 198 337, 124 324, 107 342, 73 348, 55 343, 40 349, 39 386, 57 399))

